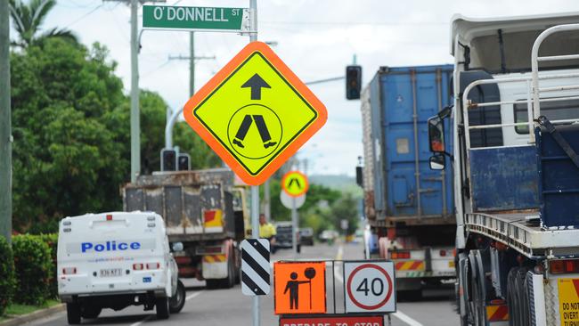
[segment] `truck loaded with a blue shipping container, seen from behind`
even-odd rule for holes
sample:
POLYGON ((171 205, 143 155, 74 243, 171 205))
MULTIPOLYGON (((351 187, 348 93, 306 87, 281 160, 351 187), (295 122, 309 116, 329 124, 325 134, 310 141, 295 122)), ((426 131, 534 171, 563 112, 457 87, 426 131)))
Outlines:
POLYGON ((398 297, 453 283, 452 170, 428 167, 428 118, 450 105, 453 65, 381 67, 361 94, 366 257, 395 262, 398 297))

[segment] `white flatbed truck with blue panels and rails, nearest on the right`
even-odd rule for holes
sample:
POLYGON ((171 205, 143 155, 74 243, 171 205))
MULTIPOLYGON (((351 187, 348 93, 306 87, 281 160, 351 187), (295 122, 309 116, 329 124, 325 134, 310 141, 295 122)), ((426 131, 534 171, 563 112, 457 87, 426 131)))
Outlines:
POLYGON ((453 17, 453 106, 428 138, 453 174, 461 325, 579 324, 577 21, 453 17))

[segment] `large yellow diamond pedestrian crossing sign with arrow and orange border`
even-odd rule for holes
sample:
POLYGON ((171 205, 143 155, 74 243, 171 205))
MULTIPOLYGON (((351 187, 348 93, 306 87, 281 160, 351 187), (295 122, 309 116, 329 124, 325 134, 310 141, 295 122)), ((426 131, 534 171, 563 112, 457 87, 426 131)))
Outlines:
POLYGON ((318 98, 252 42, 185 104, 183 115, 245 183, 264 183, 326 122, 318 98))

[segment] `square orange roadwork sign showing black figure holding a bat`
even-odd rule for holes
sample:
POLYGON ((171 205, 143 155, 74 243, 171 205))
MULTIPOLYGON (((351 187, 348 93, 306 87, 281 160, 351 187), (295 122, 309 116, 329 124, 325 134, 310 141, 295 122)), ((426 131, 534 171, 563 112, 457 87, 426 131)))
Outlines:
POLYGON ((275 314, 326 313, 326 263, 273 264, 275 314))

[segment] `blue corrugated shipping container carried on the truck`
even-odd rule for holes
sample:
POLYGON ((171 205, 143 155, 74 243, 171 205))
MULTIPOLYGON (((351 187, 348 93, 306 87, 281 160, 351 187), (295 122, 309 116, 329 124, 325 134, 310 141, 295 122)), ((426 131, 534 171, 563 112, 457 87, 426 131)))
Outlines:
MULTIPOLYGON (((450 217, 453 170, 429 168, 428 118, 452 104, 452 65, 382 68, 370 84, 377 219, 450 217)), ((450 125, 445 148, 452 152, 450 125)))

